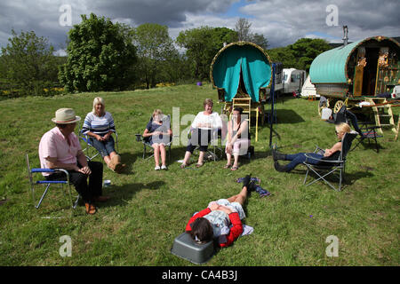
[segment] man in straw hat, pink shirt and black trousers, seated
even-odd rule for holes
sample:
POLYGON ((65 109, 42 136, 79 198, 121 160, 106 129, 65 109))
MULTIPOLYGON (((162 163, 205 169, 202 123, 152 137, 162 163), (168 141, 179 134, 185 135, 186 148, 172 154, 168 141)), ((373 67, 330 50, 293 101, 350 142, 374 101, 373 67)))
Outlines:
MULTIPOLYGON (((96 213, 94 201, 108 201, 108 196, 101 196, 103 164, 87 162, 79 139, 74 130, 81 118, 72 108, 60 108, 52 122, 52 130, 44 133, 39 144, 39 158, 42 168, 68 170, 69 181, 84 200, 86 213, 96 213), (89 177, 89 184, 87 182, 89 177)), ((64 173, 43 173, 47 180, 65 178, 64 173)))

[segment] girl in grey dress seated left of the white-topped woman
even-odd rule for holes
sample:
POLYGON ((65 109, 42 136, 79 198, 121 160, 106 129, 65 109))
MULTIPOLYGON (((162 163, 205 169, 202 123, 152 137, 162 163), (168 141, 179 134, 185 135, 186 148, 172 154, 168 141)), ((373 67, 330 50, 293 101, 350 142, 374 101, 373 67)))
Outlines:
POLYGON ((156 109, 153 112, 152 119, 148 122, 146 130, 143 132, 143 138, 154 149, 154 160, 156 167, 154 170, 167 170, 165 165, 166 150, 165 146, 171 142, 172 130, 170 127, 169 119, 166 119, 161 109, 156 109), (161 168, 160 168, 160 155, 161 155, 161 168))

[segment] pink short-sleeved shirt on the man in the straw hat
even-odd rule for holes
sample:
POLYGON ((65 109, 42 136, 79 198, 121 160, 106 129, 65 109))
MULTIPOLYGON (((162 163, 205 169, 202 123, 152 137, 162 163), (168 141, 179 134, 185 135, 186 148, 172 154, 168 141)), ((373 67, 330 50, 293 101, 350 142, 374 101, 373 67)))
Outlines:
MULTIPOLYGON (((76 156, 79 150, 82 150, 79 144, 79 139, 75 133, 69 134, 69 141, 71 145, 68 145, 67 139, 62 135, 58 127, 54 127, 52 130, 44 133, 39 144, 39 159, 40 167, 49 169, 47 166, 48 157, 57 158, 57 162, 62 163, 76 163, 76 156)), ((49 173, 42 173, 44 176, 49 176, 49 173)))

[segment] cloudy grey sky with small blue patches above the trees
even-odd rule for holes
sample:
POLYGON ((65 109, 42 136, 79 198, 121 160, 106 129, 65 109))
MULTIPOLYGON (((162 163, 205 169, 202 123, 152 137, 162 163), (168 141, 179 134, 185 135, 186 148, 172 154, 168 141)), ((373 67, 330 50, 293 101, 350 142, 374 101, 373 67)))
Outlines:
POLYGON ((12 29, 17 34, 33 30, 65 55, 68 30, 91 12, 132 27, 166 25, 173 39, 191 28, 235 29, 236 21, 245 18, 252 33, 268 39, 269 48, 302 37, 340 43, 343 25, 350 42, 400 36, 400 0, 1 0, 0 46, 7 45, 12 29))

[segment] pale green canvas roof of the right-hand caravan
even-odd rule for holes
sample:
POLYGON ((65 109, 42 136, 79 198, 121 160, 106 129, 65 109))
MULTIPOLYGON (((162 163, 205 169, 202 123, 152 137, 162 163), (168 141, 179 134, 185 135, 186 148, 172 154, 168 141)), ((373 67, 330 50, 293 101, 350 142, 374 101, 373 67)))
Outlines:
POLYGON ((309 69, 311 83, 348 83, 353 74, 348 74, 348 61, 359 46, 365 44, 390 41, 399 46, 396 41, 385 36, 372 36, 346 46, 340 46, 325 51, 313 60, 309 69))

